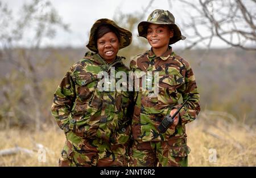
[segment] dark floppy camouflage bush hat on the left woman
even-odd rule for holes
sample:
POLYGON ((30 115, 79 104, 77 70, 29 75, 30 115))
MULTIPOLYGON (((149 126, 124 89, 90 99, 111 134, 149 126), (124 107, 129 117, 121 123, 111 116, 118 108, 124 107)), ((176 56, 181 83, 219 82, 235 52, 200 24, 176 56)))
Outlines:
POLYGON ((89 37, 89 42, 86 45, 87 48, 89 48, 90 50, 92 50, 93 52, 98 52, 97 50, 97 44, 95 44, 95 33, 98 29, 98 27, 102 26, 102 25, 111 25, 113 27, 115 27, 117 29, 117 31, 119 32, 119 49, 125 48, 126 46, 129 46, 131 44, 131 40, 132 40, 132 34, 130 31, 128 31, 127 29, 121 28, 119 26, 117 26, 117 24, 114 23, 113 20, 110 19, 98 19, 92 26, 92 28, 90 29, 90 37, 89 37))

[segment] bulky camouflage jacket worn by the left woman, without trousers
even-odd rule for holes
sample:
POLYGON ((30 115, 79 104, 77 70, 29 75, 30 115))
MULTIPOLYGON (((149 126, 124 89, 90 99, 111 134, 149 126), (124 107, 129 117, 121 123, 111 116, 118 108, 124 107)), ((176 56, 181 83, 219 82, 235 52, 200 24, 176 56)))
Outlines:
MULTIPOLYGON (((117 57, 106 63, 98 54, 90 54, 75 63, 65 74, 54 93, 52 115, 65 132, 84 138, 100 138, 110 143, 125 144, 130 137, 130 92, 100 91, 97 74, 110 73, 110 67, 128 72, 117 57)), ((127 75, 128 76, 128 75, 127 75)))

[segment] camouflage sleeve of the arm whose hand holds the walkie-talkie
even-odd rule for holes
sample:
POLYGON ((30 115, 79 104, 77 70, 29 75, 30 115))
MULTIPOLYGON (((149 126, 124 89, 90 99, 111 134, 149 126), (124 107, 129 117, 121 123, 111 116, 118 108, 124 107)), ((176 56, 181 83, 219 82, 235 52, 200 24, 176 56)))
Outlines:
MULTIPOLYGON (((191 66, 188 62, 185 63, 185 66, 185 83, 183 87, 180 87, 178 92, 181 92, 183 102, 187 100, 189 96, 190 99, 179 112, 182 125, 195 120, 200 112, 200 96, 199 92, 197 91, 195 75, 193 74, 191 66)), ((179 109, 181 105, 182 104, 176 105, 174 108, 179 109)))

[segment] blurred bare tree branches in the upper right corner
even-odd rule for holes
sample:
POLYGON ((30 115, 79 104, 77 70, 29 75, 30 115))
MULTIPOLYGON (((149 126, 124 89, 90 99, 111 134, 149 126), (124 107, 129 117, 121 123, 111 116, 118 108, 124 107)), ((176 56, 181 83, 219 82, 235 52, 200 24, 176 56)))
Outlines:
POLYGON ((201 43, 210 48, 217 37, 230 46, 256 50, 255 0, 180 0, 179 3, 185 9, 182 28, 188 37, 187 49, 201 43))

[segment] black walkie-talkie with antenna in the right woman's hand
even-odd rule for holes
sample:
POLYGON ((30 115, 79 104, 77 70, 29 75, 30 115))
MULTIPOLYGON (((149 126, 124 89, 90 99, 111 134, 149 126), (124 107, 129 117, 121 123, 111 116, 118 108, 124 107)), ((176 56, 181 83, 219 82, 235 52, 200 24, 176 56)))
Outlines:
MULTIPOLYGON (((189 98, 190 98, 190 96, 188 96, 188 99, 189 98)), ((158 126, 158 130, 160 133, 166 132, 166 130, 169 128, 169 126, 174 124, 175 116, 180 112, 180 109, 184 107, 184 105, 187 103, 188 99, 185 100, 183 105, 181 105, 181 107, 174 113, 174 115, 172 115, 172 116, 168 115, 163 118, 162 122, 158 126)))

